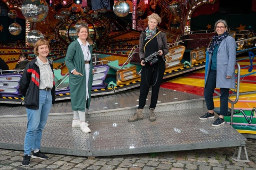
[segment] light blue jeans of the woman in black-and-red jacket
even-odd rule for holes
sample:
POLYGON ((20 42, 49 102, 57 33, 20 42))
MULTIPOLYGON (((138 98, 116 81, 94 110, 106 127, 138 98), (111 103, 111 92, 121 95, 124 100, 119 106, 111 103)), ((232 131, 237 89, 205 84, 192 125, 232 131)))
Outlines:
POLYGON ((31 155, 32 150, 40 149, 42 131, 45 127, 52 106, 51 91, 39 90, 39 109, 27 108, 28 124, 24 140, 24 155, 31 155))

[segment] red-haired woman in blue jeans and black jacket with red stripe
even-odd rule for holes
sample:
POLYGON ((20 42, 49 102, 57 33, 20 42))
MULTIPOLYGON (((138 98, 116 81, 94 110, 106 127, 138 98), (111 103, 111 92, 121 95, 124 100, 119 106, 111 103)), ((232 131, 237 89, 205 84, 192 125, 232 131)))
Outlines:
POLYGON ((29 166, 31 157, 49 159, 40 151, 42 131, 55 100, 53 65, 47 58, 50 53, 48 41, 38 40, 34 53, 37 57, 26 66, 20 79, 20 91, 25 97, 28 116, 22 166, 29 166))

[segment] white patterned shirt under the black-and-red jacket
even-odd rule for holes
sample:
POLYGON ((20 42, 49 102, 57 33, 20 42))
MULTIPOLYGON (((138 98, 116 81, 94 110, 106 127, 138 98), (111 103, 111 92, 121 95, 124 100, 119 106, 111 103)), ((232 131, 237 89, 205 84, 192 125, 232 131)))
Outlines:
POLYGON ((53 87, 53 72, 49 61, 43 63, 39 57, 36 57, 40 70, 40 83, 39 89, 51 88, 53 87))

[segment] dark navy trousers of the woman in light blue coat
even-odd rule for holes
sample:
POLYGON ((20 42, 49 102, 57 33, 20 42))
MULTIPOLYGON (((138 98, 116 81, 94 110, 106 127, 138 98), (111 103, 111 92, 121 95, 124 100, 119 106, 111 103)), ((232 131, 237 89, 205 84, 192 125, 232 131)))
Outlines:
MULTIPOLYGON (((207 82, 204 87, 204 98, 208 110, 214 109, 213 93, 214 89, 216 88, 216 77, 217 71, 210 70, 207 82)), ((229 89, 220 88, 220 115, 222 116, 226 116, 228 114, 228 96, 229 89)))

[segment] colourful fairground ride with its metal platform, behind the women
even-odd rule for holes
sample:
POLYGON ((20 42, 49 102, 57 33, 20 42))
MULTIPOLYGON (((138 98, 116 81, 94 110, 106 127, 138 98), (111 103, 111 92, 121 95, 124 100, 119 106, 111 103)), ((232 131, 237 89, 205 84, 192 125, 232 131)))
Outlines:
MULTIPOLYGON (((255 138, 256 134, 256 25, 252 22, 256 3, 251 2, 251 12, 246 13, 249 19, 242 23, 243 16, 235 14, 234 21, 223 12, 219 0, 99 2, 0 1, 0 57, 9 66, 9 70, 0 69, 0 131, 4 137, 0 139, 0 148, 22 150, 26 109, 19 80, 23 70, 14 70, 14 66, 20 53, 27 53, 28 60, 33 60, 35 42, 45 38, 51 45, 48 57, 54 61, 57 104, 45 128, 44 152, 94 157, 216 148, 221 143, 221 147, 238 147, 237 158, 237 153, 233 158, 248 161, 246 157, 241 160, 240 155, 247 156, 245 137, 255 138), (129 124, 127 118, 138 107, 139 37, 151 13, 161 16, 158 29, 166 33, 169 47, 155 111, 158 120, 153 124, 147 120, 129 124), (205 52, 215 35, 215 20, 221 17, 230 21, 229 33, 237 43, 237 88, 230 92, 227 123, 223 129, 214 129, 210 121, 199 122, 198 115, 206 111, 205 52), (65 56, 68 45, 77 39, 76 28, 80 25, 89 27, 93 39, 92 106, 86 114, 90 134, 80 134, 70 126, 73 113, 65 56), (18 128, 13 128, 13 124, 18 128)), ((219 96, 217 90, 214 105, 220 106, 219 96)), ((218 114, 218 108, 215 112, 218 114)))

